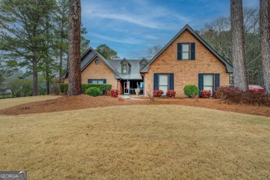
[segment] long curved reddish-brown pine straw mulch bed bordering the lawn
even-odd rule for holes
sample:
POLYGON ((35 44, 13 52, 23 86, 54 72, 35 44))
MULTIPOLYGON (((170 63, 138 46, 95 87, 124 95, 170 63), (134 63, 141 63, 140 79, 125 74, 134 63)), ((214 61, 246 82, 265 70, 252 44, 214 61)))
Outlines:
POLYGON ((226 104, 217 99, 188 99, 188 98, 156 98, 154 102, 150 100, 129 100, 112 98, 110 96, 92 97, 87 95, 80 96, 60 96, 52 100, 39 102, 30 102, 24 105, 17 105, 7 109, 2 109, 0 114, 19 115, 19 114, 36 114, 53 111, 69 111, 75 109, 86 109, 93 107, 109 107, 118 105, 187 105, 193 107, 205 107, 210 109, 219 109, 223 111, 234 111, 244 114, 254 114, 270 117, 270 107, 259 107, 253 105, 233 105, 226 104))

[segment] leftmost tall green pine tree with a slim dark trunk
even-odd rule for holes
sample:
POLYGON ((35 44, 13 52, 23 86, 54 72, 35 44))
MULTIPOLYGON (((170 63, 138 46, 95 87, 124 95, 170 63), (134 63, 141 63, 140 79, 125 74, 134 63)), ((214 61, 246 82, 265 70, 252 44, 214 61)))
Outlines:
POLYGON ((0 47, 33 74, 33 96, 37 96, 39 62, 44 58, 44 32, 53 0, 2 0, 0 4, 0 47))

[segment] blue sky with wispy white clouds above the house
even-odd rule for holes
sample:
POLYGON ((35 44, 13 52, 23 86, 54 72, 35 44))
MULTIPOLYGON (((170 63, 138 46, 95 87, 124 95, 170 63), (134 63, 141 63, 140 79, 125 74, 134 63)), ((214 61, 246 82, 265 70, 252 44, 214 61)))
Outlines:
MULTIPOLYGON (((107 44, 120 59, 146 56, 148 48, 165 46, 183 26, 194 30, 230 15, 230 0, 81 0, 85 37, 96 48, 107 44)), ((259 0, 243 0, 255 8, 259 0)))

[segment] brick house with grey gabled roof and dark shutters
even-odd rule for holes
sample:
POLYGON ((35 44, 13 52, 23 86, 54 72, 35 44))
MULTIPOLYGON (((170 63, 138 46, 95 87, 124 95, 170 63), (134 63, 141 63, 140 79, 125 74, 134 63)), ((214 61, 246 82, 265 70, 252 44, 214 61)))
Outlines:
MULTIPOLYGON (((146 94, 148 89, 164 93, 195 84, 200 90, 217 90, 229 84, 233 67, 211 48, 190 26, 184 26, 152 60, 106 60, 89 48, 81 57, 82 83, 107 83, 123 94, 146 94)), ((69 71, 62 75, 68 82, 69 71)))

